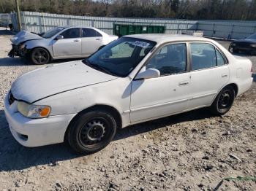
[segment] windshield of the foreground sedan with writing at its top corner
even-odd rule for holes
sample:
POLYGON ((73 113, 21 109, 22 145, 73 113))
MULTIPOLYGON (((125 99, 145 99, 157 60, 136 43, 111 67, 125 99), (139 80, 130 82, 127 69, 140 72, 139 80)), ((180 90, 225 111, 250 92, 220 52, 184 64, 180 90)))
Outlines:
POLYGON ((83 63, 107 74, 127 77, 155 44, 145 39, 121 37, 83 60, 83 63))

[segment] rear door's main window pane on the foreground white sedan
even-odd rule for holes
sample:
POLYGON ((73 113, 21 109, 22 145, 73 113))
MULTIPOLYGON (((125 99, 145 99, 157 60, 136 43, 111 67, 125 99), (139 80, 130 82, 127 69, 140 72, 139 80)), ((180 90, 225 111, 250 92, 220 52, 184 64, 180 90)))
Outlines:
POLYGON ((215 47, 207 43, 191 43, 192 70, 208 69, 216 66, 215 47))

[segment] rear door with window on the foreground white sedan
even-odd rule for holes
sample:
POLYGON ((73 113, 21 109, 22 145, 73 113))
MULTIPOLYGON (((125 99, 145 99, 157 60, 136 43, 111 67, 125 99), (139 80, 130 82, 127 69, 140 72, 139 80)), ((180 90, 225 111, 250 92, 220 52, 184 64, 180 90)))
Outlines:
POLYGON ((229 80, 227 61, 217 47, 207 42, 191 42, 189 49, 189 109, 209 106, 229 80))

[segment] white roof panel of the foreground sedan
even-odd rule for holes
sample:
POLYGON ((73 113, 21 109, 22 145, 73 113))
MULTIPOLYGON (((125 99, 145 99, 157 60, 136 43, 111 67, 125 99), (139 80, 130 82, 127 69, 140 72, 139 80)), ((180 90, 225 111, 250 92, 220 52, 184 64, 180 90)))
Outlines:
POLYGON ((176 41, 208 41, 211 39, 206 39, 200 36, 184 35, 184 34, 132 34, 126 35, 126 37, 146 39, 157 43, 165 42, 176 42, 176 41))

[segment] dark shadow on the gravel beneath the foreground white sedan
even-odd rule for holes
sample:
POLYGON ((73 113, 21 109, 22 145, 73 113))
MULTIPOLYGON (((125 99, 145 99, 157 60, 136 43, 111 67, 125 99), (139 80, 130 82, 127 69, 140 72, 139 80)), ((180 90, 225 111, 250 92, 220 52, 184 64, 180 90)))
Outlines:
MULTIPOLYGON (((205 109, 199 109, 194 112, 143 122, 118 130, 114 141, 126 139, 127 137, 136 136, 151 130, 165 128, 167 125, 189 120, 200 120, 206 117, 211 117, 211 114, 205 112, 205 109)), ((0 145, 0 172, 23 170, 38 165, 53 166, 57 165, 58 161, 71 160, 77 157, 90 157, 89 155, 81 156, 75 154, 66 144, 53 144, 34 148, 21 146, 12 137, 3 110, 0 110, 0 145)))

